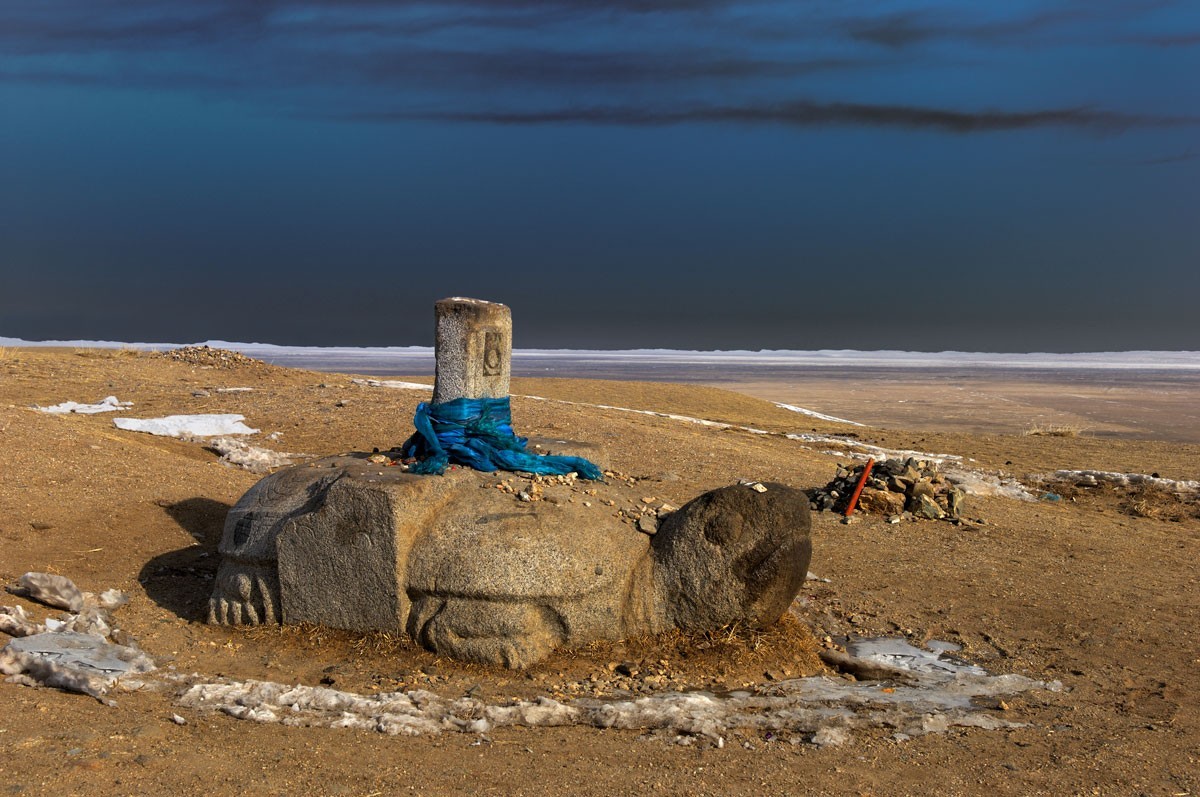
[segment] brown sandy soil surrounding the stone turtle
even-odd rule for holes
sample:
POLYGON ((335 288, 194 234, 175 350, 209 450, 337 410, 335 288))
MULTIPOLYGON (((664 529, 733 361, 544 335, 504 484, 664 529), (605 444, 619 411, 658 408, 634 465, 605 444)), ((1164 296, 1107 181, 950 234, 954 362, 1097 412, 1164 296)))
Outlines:
MULTIPOLYGON (((738 479, 816 486, 828 445, 786 432, 857 435, 954 453, 1019 478, 1057 468, 1196 479, 1200 445, 1088 436, 918 432, 812 421, 715 388, 518 379, 515 394, 677 413, 773 432, 697 426, 582 405, 514 400, 526 435, 600 444, 607 465, 683 503, 738 479)), ((401 640, 320 629, 233 630, 200 622, 227 509, 257 479, 196 443, 122 432, 112 415, 47 415, 31 405, 134 402, 132 414, 234 412, 281 432, 277 450, 388 448, 410 430, 419 391, 254 362, 209 367, 125 352, 8 349, 0 355, 0 581, 60 573, 131 594, 119 611, 142 647, 178 672, 377 691, 468 691, 492 701, 629 687, 631 661, 662 688, 740 688, 820 669, 824 635, 894 634, 962 645, 994 672, 1057 678, 1061 693, 1013 699, 1022 727, 958 729, 895 742, 886 729, 816 748, 744 735, 680 748, 634 731, 580 727, 389 737, 258 725, 181 709, 172 694, 108 707, 0 684, 0 787, 10 793, 1148 793, 1200 790, 1196 627, 1200 519, 1169 497, 1111 487, 1060 502, 972 498, 978 522, 850 526, 820 515, 799 621, 762 634, 630 640, 566 653, 529 672, 438 660, 401 640), (250 386, 252 391, 218 392, 250 386), (204 391, 208 395, 196 396, 204 391), (1139 501, 1141 503, 1139 503, 1139 501), (1148 503, 1147 503, 1148 502, 1148 503), (1147 509, 1148 507, 1148 509, 1147 509), (1164 520, 1171 517, 1174 520, 1164 520), (181 714, 186 725, 170 721, 181 714)), ((984 401, 985 397, 980 397, 984 401)), ((803 403, 803 402, 798 402, 803 403)), ((978 407, 986 414, 986 405, 978 407)), ((862 420, 862 418, 859 418, 862 420)), ((1032 419, 1031 419, 1032 423, 1032 419)), ((842 460, 845 461, 845 460, 842 460)), ((46 610, 16 597, 38 617, 46 610)), ((635 678, 636 681, 636 678, 635 678)), ((649 682, 635 684, 654 689, 649 682)))

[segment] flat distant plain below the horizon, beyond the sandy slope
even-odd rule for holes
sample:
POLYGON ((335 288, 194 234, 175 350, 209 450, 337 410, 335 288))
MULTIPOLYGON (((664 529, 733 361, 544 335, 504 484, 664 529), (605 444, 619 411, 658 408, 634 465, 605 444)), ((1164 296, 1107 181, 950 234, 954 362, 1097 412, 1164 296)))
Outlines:
MULTIPOLYGON (((356 366, 361 373, 398 376, 394 368, 356 366)), ((425 378, 431 372, 432 358, 425 378)), ((894 430, 1014 435, 1052 429, 1098 438, 1200 443, 1200 371, 1192 370, 731 366, 566 358, 522 364, 517 352, 514 376, 710 385, 894 430)))

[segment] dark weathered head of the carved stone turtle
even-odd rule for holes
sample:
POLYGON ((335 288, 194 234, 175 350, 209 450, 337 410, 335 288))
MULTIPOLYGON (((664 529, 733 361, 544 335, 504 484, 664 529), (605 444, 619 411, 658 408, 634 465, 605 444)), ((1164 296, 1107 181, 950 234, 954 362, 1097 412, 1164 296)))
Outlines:
POLYGON ((809 498, 780 484, 722 487, 668 515, 652 547, 655 586, 685 630, 764 627, 794 600, 812 556, 809 498))

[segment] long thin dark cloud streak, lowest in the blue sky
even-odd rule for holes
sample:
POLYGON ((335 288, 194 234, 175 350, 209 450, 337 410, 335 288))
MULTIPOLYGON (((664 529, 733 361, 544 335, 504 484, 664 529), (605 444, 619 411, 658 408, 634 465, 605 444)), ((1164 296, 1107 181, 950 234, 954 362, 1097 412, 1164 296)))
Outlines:
POLYGON ((355 113, 354 121, 457 121, 492 125, 620 125, 658 127, 680 124, 742 124, 820 127, 830 125, 898 127, 948 133, 986 133, 1039 127, 1073 127, 1120 132, 1132 127, 1174 127, 1200 124, 1192 116, 1148 116, 1094 108, 966 112, 917 106, 887 106, 810 101, 738 106, 697 106, 678 109, 638 107, 580 107, 532 112, 384 112, 355 113))

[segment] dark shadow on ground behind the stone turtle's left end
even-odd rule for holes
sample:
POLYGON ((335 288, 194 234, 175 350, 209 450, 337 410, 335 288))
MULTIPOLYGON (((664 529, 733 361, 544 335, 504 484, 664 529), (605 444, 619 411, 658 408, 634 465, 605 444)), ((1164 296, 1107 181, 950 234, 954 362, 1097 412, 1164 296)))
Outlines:
POLYGON ((188 622, 203 621, 220 564, 217 544, 230 505, 211 498, 187 498, 162 504, 162 509, 196 544, 150 559, 138 581, 146 595, 167 611, 188 622))

